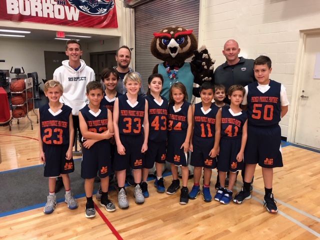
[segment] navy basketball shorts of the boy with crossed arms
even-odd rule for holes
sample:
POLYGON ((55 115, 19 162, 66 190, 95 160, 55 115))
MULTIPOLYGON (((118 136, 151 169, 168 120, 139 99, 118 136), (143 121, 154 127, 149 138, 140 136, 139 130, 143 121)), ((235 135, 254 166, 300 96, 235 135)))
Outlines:
POLYGON ((95 142, 89 149, 85 147, 82 149, 81 177, 94 178, 96 172, 100 178, 107 177, 112 172, 108 140, 95 142))

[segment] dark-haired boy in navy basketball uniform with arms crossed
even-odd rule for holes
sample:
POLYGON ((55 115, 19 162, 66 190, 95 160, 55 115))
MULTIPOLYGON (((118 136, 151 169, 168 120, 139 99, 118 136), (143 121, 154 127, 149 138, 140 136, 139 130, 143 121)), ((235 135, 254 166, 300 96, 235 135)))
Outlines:
POLYGON ((86 196, 85 217, 94 217, 92 200, 93 182, 96 172, 101 179, 100 205, 107 211, 114 211, 114 204, 108 199, 109 174, 111 172, 110 141, 113 135, 112 113, 106 107, 100 107, 103 87, 98 81, 86 85, 86 97, 89 104, 79 111, 80 130, 83 136, 81 177, 84 178, 86 196))

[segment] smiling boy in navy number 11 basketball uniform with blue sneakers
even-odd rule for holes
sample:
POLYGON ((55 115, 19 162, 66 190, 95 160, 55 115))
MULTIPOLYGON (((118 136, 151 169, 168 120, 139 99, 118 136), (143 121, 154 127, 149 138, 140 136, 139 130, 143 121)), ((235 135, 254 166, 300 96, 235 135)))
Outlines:
POLYGON ((212 200, 209 185, 212 169, 216 167, 221 127, 221 114, 217 115, 219 107, 212 102, 213 95, 214 85, 209 81, 203 82, 200 87, 201 102, 192 106, 193 129, 189 146, 192 152, 190 164, 194 166, 189 199, 195 199, 200 193, 199 181, 203 168, 202 194, 206 202, 212 200))

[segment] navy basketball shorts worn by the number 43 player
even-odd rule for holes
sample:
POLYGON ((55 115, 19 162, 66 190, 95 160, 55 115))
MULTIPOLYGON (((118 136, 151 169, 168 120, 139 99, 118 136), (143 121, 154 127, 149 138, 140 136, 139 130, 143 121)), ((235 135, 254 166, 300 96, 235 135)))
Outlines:
POLYGON ((145 152, 144 168, 152 168, 154 162, 165 163, 166 156, 166 141, 155 142, 148 141, 148 150, 145 152))

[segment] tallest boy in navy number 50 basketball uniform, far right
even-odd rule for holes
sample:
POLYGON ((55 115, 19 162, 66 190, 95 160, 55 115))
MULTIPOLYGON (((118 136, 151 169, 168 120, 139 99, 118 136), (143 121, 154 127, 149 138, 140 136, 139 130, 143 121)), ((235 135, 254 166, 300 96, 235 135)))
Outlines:
POLYGON ((243 109, 248 113, 244 182, 233 201, 240 204, 251 197, 250 181, 258 163, 262 167, 264 206, 268 212, 276 213, 278 208, 272 194, 273 168, 283 166, 279 121, 287 112, 289 102, 284 86, 269 79, 272 70, 270 58, 259 56, 253 64, 257 81, 245 86, 242 101, 243 109))

